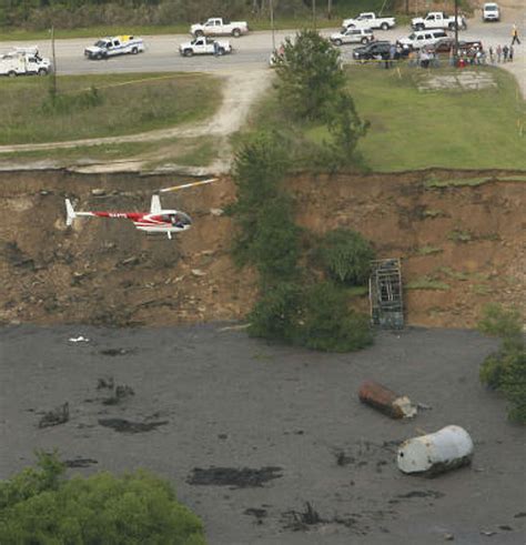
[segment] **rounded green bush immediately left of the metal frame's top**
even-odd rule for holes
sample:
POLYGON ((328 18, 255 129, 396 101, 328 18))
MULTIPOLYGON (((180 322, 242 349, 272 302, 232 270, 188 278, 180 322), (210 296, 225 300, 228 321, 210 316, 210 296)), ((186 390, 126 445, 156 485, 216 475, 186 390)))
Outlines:
POLYGON ((337 282, 363 285, 368 280, 374 250, 358 232, 335 229, 322 238, 314 255, 337 282))

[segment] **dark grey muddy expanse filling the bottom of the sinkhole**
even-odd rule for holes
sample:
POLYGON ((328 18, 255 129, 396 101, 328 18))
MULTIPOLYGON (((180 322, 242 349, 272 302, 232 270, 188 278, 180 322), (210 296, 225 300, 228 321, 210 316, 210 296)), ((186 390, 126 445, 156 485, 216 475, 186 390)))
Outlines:
POLYGON ((72 470, 84 475, 146 467, 203 517, 213 545, 427 545, 445 534, 458 544, 524 544, 524 428, 506 422, 505 402, 477 377, 495 346, 475 332, 421 329, 325 355, 269 346, 219 324, 3 327, 0 477, 31 464, 36 447, 91 458, 91 467, 72 470), (91 341, 68 341, 79 334, 91 341), (110 375, 135 395, 104 405, 97 381, 110 375), (360 404, 366 379, 432 408, 391 421, 360 404), (40 412, 65 401, 70 422, 38 428, 40 412), (165 423, 130 434, 99 425, 104 418, 165 423), (472 467, 435 480, 401 474, 396 445, 447 424, 471 433, 472 467), (242 488, 188 482, 195 467, 212 466, 272 466, 281 476, 242 488), (286 513, 305 502, 326 522, 294 531, 286 513))

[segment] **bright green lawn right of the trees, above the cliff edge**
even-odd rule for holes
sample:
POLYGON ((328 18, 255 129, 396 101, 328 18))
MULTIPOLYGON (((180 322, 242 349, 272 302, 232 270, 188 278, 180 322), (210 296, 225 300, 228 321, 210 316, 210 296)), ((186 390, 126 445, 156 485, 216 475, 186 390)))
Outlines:
MULTIPOLYGON (((365 163, 385 172, 429 166, 526 169, 526 104, 517 82, 504 70, 478 71, 494 78, 497 87, 419 91, 422 78, 449 75, 452 70, 347 68, 357 111, 371 122, 358 145, 365 163)), ((263 105, 264 124, 272 122, 271 104, 263 105)), ((321 127, 304 125, 303 131, 315 142, 328 138, 321 127)))

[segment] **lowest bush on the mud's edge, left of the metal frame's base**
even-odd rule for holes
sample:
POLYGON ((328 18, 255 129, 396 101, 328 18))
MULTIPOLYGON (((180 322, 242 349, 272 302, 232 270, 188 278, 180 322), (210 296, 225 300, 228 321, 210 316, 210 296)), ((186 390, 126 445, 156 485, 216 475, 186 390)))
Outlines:
POLYGON ((370 320, 348 307, 344 290, 331 282, 312 286, 301 331, 302 344, 324 352, 351 352, 373 343, 370 320))

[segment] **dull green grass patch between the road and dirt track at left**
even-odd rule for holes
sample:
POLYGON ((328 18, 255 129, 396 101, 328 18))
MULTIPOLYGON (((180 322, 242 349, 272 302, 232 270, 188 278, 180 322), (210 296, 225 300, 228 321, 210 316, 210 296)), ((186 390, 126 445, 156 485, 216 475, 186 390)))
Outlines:
POLYGON ((117 137, 199 121, 219 107, 220 85, 205 74, 63 75, 53 105, 49 78, 6 79, 0 144, 117 137))

